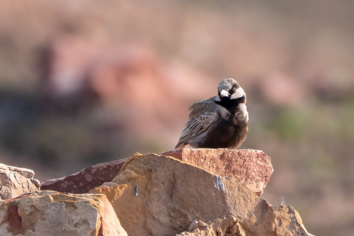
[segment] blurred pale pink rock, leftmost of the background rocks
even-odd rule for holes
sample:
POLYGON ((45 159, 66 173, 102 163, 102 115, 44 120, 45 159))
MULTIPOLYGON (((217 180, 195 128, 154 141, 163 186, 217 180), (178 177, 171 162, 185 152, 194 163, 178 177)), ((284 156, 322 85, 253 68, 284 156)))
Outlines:
POLYGON ((61 98, 80 92, 84 87, 87 65, 102 45, 97 40, 68 33, 55 38, 46 55, 44 77, 51 96, 61 98))

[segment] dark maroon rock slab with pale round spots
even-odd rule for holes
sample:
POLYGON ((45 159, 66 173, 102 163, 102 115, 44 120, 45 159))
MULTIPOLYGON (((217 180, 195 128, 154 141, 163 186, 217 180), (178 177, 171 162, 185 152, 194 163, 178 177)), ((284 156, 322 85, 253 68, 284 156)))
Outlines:
POLYGON ((66 177, 47 180, 41 183, 41 190, 72 194, 86 193, 97 186, 101 186, 104 182, 110 182, 118 174, 125 161, 126 159, 105 162, 86 167, 66 177))

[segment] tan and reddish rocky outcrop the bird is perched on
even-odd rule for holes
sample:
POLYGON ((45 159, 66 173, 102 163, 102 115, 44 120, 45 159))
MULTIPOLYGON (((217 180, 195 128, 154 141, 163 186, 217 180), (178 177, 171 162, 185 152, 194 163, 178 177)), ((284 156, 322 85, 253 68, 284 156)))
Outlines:
POLYGON ((310 236, 292 206, 259 198, 272 172, 257 150, 135 154, 42 184, 75 194, 35 191, 4 201, 0 235, 310 236))

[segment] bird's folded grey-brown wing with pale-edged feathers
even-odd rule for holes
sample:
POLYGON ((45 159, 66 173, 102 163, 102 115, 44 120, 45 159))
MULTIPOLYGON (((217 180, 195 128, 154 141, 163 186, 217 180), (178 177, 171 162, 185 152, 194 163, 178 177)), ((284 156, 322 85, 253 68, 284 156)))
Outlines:
POLYGON ((190 106, 188 109, 190 110, 189 119, 185 124, 175 149, 189 139, 198 136, 217 119, 217 104, 213 100, 214 98, 201 100, 190 106))

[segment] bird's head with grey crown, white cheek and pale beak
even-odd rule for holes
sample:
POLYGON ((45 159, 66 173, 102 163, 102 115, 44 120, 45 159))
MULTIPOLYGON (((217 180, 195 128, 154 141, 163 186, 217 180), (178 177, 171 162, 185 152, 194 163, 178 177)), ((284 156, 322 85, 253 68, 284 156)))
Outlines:
POLYGON ((215 100, 226 101, 241 97, 245 97, 246 99, 246 94, 239 83, 234 79, 224 79, 218 85, 218 96, 215 100))

